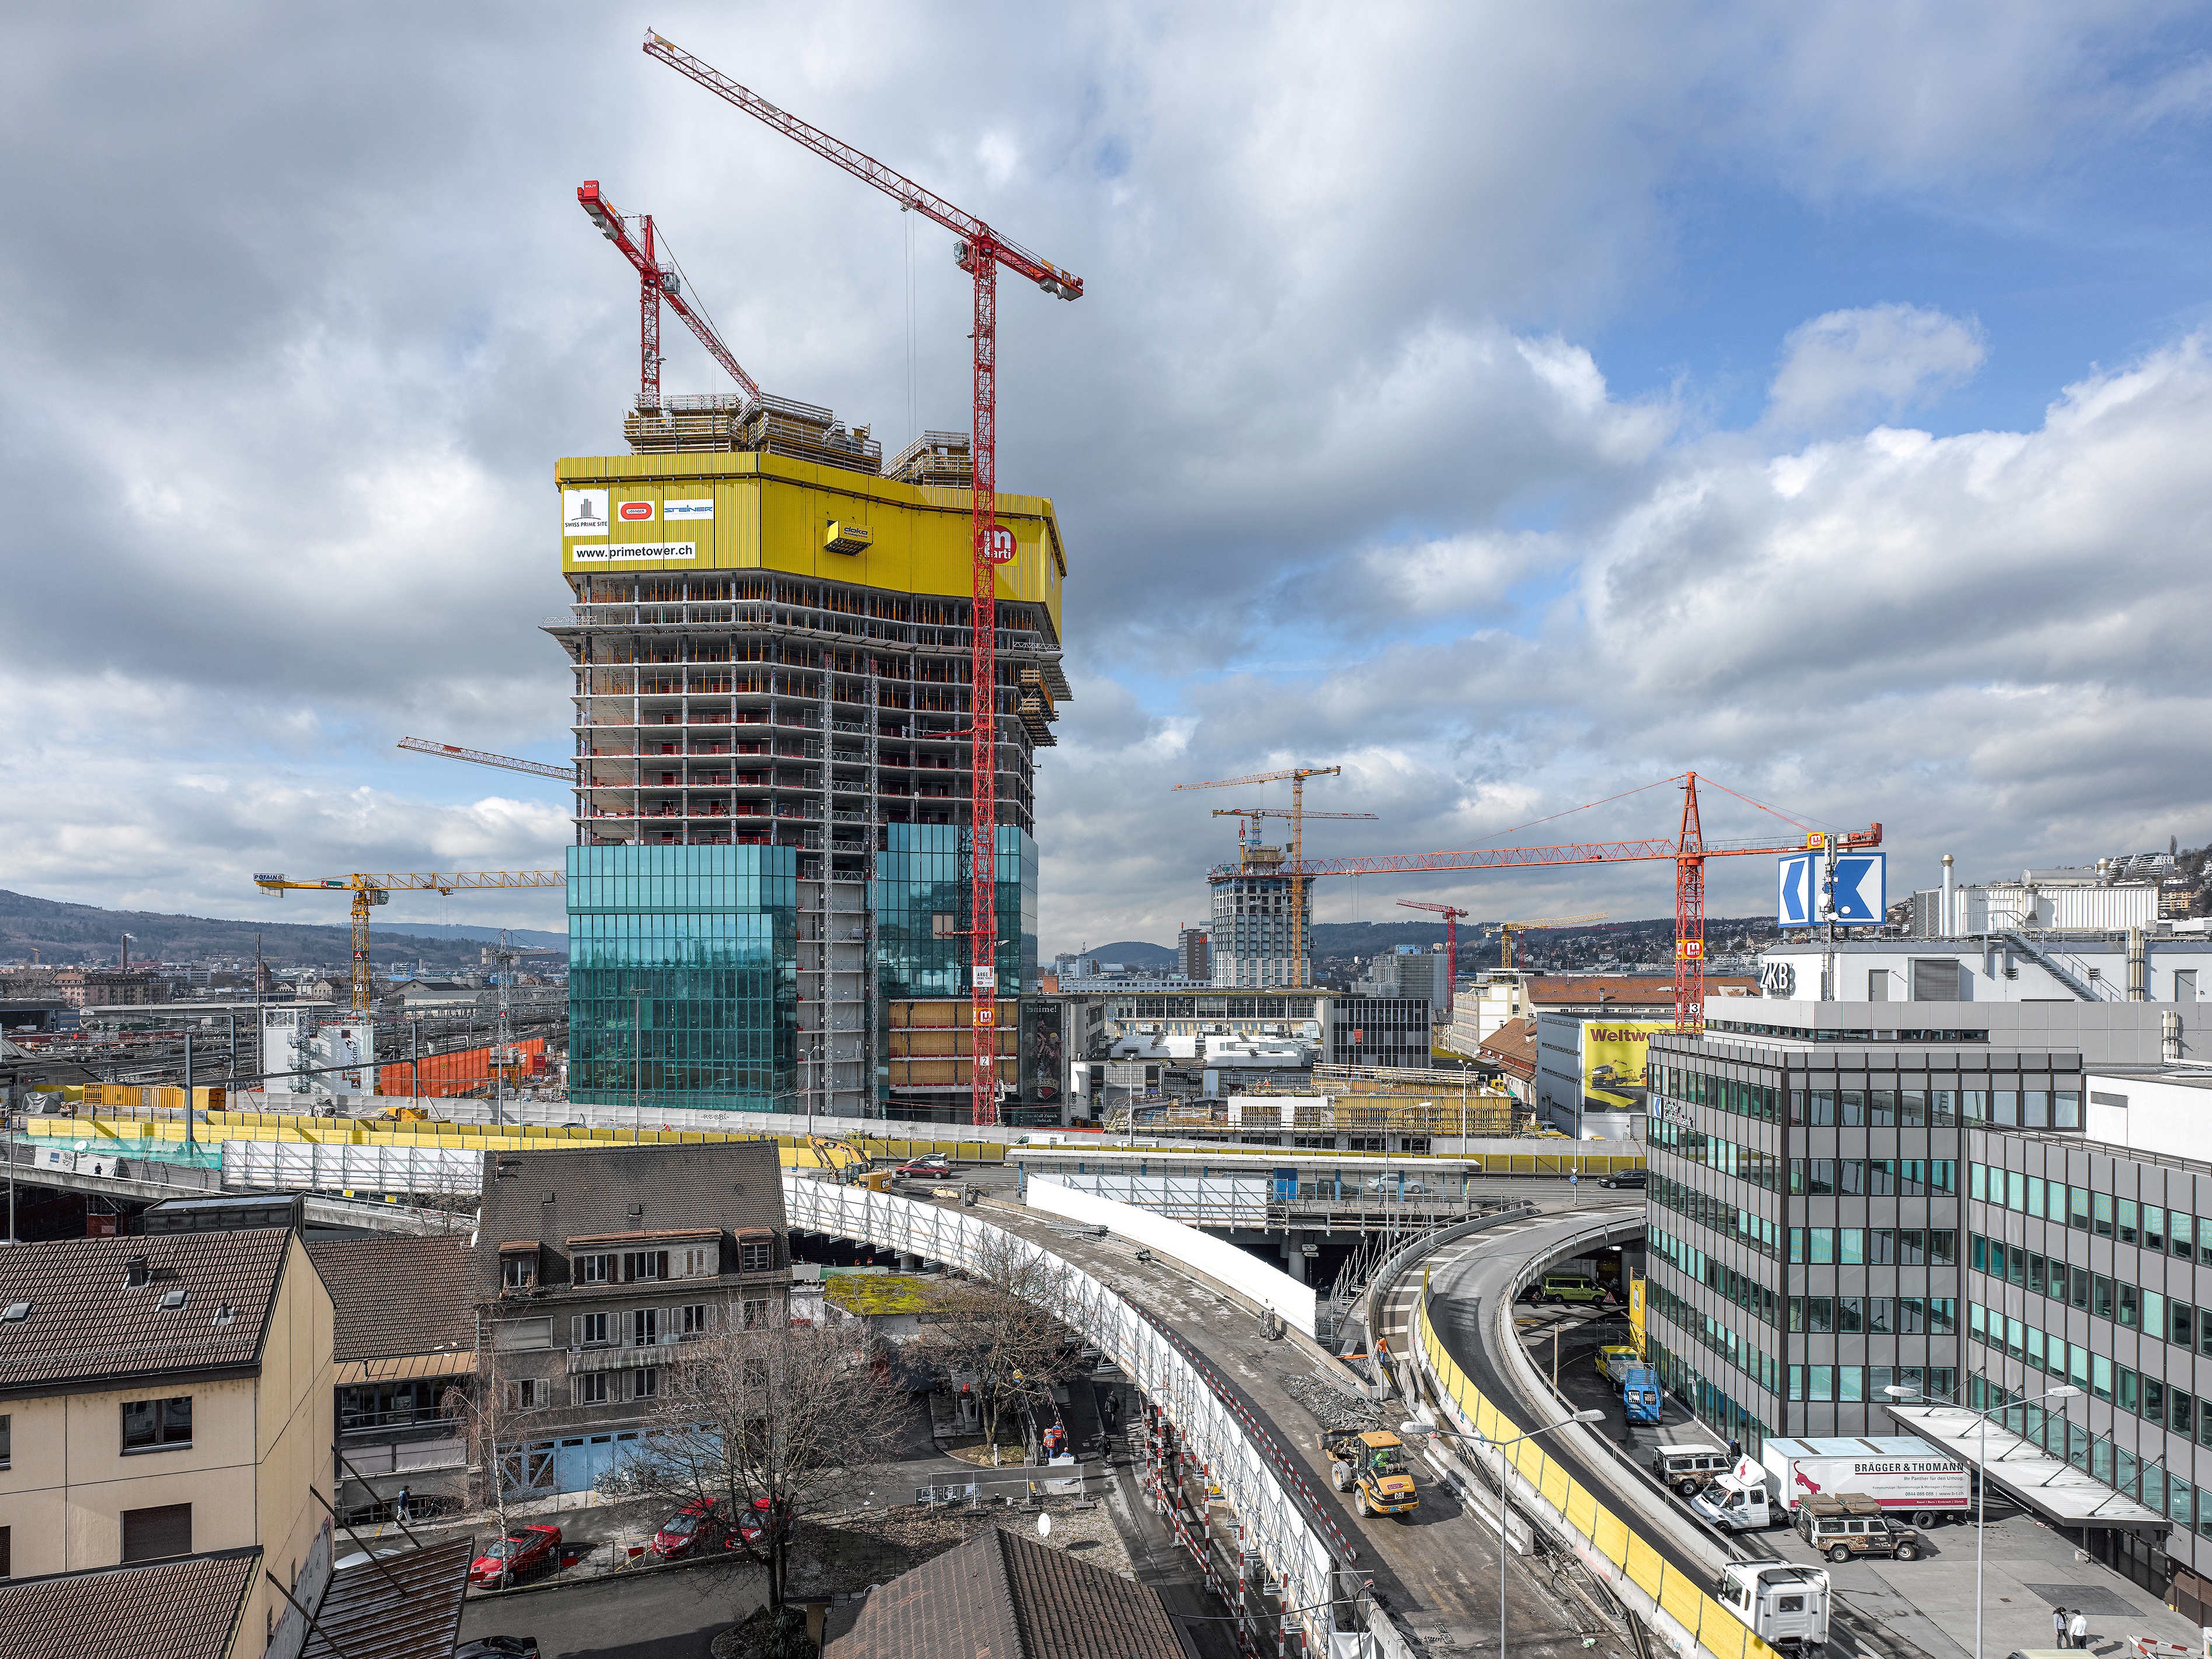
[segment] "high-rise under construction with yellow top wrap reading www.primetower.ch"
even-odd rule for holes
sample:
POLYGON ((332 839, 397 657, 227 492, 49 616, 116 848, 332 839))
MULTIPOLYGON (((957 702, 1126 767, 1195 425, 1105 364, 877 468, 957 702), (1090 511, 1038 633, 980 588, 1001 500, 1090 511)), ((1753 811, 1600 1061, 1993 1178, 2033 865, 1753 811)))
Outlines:
MULTIPOLYGON (((633 453, 555 469, 571 1097, 964 1117, 964 1079, 942 1102, 883 1079, 887 1004, 969 982, 967 434, 885 469, 827 409, 668 398, 624 436, 633 453)), ((1068 697, 1068 564, 1048 500, 1000 493, 998 522, 1015 555, 982 717, 1004 998, 1037 982, 1033 776, 1068 697)))

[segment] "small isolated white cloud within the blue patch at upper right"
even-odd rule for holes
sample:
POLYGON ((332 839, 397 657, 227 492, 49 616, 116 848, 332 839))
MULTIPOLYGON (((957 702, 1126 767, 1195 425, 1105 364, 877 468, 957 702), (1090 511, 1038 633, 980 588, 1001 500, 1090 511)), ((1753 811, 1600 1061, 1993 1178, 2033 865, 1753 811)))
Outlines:
POLYGON ((1964 385, 1989 347, 1973 321, 1918 305, 1867 305, 1803 323, 1783 341, 1783 354, 1767 422, 1827 431, 1896 418, 1964 385))

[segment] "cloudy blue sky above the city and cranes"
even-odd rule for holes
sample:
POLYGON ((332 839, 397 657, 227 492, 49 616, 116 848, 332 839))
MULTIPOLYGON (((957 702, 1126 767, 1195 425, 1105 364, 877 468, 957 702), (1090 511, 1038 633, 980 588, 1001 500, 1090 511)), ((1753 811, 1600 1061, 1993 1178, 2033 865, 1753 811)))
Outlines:
MULTIPOLYGON (((250 874, 560 856, 553 787, 392 745, 568 750, 551 469, 635 392, 582 179, 770 389, 967 425, 949 237, 646 24, 1088 283, 1002 290, 1073 555, 1046 949, 1172 940, 1245 796, 1170 785, 1290 763, 1378 814, 1316 852, 1657 834, 1522 825, 1690 768, 1880 818, 1893 891, 2212 838, 2203 4, 124 0, 0 22, 0 887, 321 920, 250 874)), ((1407 896, 1670 905, 1323 916, 1407 896)))

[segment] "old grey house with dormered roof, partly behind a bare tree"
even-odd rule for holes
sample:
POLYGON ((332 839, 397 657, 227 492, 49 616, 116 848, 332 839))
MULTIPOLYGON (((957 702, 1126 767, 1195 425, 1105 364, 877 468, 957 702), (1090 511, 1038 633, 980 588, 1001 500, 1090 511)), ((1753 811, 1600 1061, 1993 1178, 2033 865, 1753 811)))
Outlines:
POLYGON ((593 1486, 670 1349, 785 1323, 790 1281, 774 1141, 484 1152, 473 1290, 509 1482, 593 1486))

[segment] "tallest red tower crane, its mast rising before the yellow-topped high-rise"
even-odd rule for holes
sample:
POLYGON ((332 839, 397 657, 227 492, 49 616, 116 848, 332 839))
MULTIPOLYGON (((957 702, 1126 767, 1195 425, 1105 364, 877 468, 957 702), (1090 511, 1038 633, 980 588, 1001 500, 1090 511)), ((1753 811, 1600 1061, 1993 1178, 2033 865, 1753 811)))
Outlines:
POLYGON ((998 268, 1004 265, 1015 276, 1026 276, 1060 299, 1082 299, 1084 279, 1009 241, 973 212, 956 208, 852 144, 776 108, 650 29, 646 31, 646 55, 659 58, 745 115, 876 186, 902 210, 918 212, 951 230, 960 239, 953 246, 953 257, 960 270, 975 279, 975 332, 971 336, 975 341, 975 434, 969 442, 975 467, 975 489, 969 504, 975 546, 973 606, 969 611, 969 1117, 975 1124, 995 1124, 998 1066, 980 1062, 984 1053, 998 1053, 998 566, 1009 564, 1015 551, 1013 531, 998 524, 998 268))

